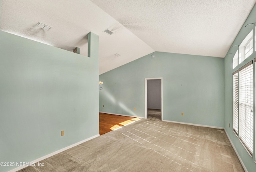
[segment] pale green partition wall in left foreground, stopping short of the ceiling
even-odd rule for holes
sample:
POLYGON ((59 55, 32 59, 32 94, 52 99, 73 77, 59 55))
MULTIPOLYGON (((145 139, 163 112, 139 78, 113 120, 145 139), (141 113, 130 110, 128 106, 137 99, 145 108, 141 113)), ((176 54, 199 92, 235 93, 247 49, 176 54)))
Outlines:
POLYGON ((30 162, 99 134, 98 57, 0 38, 0 162, 30 162))

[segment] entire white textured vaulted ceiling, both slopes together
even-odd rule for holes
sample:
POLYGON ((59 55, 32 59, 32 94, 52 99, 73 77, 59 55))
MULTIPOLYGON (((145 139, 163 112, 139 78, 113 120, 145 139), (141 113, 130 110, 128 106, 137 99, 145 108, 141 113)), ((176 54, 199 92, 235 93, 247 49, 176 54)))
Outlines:
POLYGON ((1 0, 1 30, 87 55, 100 37, 99 73, 154 51, 224 57, 256 0, 1 0), (38 28, 42 22, 52 28, 38 28), (111 36, 102 32, 109 29, 111 36), (120 54, 116 57, 114 54, 120 54))

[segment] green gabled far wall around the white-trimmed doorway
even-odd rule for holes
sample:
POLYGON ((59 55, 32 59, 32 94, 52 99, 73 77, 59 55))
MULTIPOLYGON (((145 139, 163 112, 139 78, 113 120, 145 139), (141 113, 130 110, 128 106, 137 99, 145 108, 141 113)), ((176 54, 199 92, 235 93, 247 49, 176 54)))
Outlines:
POLYGON ((164 120, 224 127, 223 58, 151 55, 100 75, 100 112, 145 117, 144 79, 162 77, 164 120))

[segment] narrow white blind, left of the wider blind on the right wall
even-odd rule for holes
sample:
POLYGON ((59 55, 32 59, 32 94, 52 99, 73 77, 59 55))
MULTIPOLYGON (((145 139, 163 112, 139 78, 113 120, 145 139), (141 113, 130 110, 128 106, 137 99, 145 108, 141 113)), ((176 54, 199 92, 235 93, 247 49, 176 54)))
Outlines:
POLYGON ((233 74, 233 130, 238 134, 238 72, 233 74))

